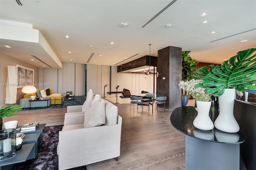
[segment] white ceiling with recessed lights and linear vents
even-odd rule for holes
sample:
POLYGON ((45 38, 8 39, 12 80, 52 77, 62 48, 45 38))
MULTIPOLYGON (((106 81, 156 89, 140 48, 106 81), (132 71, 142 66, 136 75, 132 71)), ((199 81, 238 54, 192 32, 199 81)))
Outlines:
MULTIPOLYGON (((181 47, 182 51, 191 51, 190 56, 197 61, 210 63, 222 63, 238 51, 256 47, 256 0, 174 0, 144 28, 140 27, 172 0, 20 2, 22 6, 16 0, 0 0, 0 20, 32 24, 53 53, 41 43, 8 40, 4 35, 0 35, 0 50, 37 67, 45 64, 30 61, 33 59, 31 55, 52 68, 61 67, 56 58, 52 59, 54 56, 60 62, 118 66, 149 55, 149 43, 154 56, 159 49, 175 46, 181 47), (204 12, 207 15, 200 16, 204 12), (208 23, 204 24, 205 20, 208 23), (120 28, 121 22, 128 26, 120 28), (166 28, 166 24, 172 26, 166 28), (216 33, 210 34, 212 31, 216 33), (66 35, 70 38, 65 38, 66 35), (240 42, 236 40, 238 38, 248 41, 240 42), (94 55, 87 63, 92 53, 94 55)), ((13 32, 13 35, 18 33, 13 32)), ((46 65, 45 68, 49 67, 46 65)))

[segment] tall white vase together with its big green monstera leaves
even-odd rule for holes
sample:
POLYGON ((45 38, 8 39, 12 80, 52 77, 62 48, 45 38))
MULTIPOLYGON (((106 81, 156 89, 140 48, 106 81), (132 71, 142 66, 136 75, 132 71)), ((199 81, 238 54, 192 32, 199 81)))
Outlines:
POLYGON ((220 113, 214 122, 218 130, 235 133, 240 129, 233 114, 234 88, 238 91, 256 90, 256 54, 253 55, 255 51, 256 48, 239 51, 220 66, 210 65, 210 71, 207 67, 202 67, 196 71, 199 76, 193 76, 203 80, 197 87, 206 86, 208 93, 218 96, 220 113))

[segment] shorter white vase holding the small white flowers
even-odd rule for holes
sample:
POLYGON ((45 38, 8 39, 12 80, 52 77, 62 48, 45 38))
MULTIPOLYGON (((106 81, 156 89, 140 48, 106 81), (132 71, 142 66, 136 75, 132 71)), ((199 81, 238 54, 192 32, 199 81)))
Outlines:
POLYGON ((193 125, 200 130, 212 130, 214 125, 209 117, 211 107, 210 101, 196 101, 198 115, 193 121, 193 125))

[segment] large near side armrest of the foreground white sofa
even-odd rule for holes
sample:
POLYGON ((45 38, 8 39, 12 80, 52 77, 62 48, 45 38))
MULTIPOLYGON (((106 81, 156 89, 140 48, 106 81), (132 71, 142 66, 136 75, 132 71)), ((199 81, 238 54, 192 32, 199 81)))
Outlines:
POLYGON ((116 125, 60 131, 59 168, 84 166, 120 156, 121 128, 122 117, 118 115, 116 125))

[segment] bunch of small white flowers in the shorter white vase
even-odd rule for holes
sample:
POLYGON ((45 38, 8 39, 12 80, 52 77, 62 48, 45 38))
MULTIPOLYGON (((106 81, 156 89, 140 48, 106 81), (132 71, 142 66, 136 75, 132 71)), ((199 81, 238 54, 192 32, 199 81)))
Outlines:
POLYGON ((211 94, 207 92, 207 89, 204 87, 196 87, 196 84, 202 83, 203 80, 191 79, 190 81, 180 81, 179 87, 184 91, 187 91, 192 95, 197 101, 210 101, 211 94))

